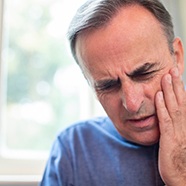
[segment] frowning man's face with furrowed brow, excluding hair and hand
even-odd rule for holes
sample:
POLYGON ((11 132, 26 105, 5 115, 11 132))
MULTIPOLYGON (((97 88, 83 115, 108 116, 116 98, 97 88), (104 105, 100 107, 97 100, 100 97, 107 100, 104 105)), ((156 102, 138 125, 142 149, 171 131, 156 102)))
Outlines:
POLYGON ((156 143, 155 95, 177 62, 153 15, 140 6, 123 8, 106 27, 79 36, 76 51, 118 132, 135 143, 156 143))

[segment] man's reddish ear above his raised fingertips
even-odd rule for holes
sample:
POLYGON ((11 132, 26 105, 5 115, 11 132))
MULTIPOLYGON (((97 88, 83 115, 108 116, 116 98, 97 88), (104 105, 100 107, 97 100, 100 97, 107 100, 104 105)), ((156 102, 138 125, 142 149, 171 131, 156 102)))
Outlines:
POLYGON ((175 38, 173 42, 174 58, 180 74, 184 72, 184 49, 180 38, 175 38))

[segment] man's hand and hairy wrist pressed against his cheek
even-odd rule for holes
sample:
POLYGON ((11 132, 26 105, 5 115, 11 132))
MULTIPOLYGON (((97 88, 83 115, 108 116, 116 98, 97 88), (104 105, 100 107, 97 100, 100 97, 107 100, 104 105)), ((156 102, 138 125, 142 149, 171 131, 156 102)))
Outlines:
POLYGON ((167 186, 186 185, 186 92, 178 69, 164 75, 155 103, 160 128, 159 171, 167 186))

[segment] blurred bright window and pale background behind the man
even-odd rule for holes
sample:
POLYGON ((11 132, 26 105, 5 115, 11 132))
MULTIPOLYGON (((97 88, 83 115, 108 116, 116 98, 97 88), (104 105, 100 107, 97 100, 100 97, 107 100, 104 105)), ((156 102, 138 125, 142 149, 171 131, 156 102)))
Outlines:
MULTIPOLYGON (((0 185, 37 184, 57 133, 104 114, 66 37, 84 1, 0 0, 0 185)), ((162 2, 186 46, 186 1, 162 2)))

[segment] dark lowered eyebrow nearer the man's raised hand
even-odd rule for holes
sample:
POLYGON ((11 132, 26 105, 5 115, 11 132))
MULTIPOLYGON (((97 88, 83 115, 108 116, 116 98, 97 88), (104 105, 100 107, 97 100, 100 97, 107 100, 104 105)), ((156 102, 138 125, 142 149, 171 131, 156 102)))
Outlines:
MULTIPOLYGON (((136 77, 139 76, 145 72, 148 72, 151 69, 154 69, 154 67, 156 67, 158 65, 158 63, 145 63, 142 66, 136 68, 133 72, 127 74, 128 77, 136 77)), ((156 71, 156 70, 154 70, 156 71)))

